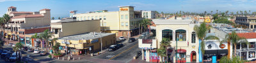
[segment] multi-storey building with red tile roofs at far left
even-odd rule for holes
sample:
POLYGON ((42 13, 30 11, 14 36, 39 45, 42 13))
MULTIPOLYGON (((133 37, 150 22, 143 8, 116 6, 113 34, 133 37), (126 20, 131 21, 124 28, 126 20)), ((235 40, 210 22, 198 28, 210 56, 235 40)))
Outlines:
POLYGON ((16 9, 11 6, 6 12, 10 15, 11 20, 8 24, 4 25, 4 36, 5 38, 32 46, 30 37, 26 36, 26 34, 34 34, 51 29, 51 12, 49 9, 35 12, 17 11, 16 9))

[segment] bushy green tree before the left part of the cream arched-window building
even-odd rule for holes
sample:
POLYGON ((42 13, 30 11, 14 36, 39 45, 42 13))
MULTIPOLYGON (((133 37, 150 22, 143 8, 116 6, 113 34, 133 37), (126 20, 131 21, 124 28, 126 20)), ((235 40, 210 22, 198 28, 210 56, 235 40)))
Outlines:
POLYGON ((170 46, 170 39, 168 38, 163 38, 162 41, 161 41, 161 47, 159 49, 160 52, 158 52, 158 49, 157 49, 157 53, 159 53, 159 55, 161 57, 164 57, 164 60, 166 60, 168 62, 168 47, 170 46))

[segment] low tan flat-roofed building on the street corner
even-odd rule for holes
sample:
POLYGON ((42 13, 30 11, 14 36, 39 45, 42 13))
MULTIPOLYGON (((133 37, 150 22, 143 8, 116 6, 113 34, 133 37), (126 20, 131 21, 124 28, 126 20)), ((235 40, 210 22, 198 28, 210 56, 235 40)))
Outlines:
POLYGON ((61 45, 61 52, 70 50, 72 54, 78 54, 80 51, 82 54, 88 54, 92 52, 99 52, 102 49, 106 49, 111 45, 116 44, 115 33, 100 33, 100 32, 86 32, 83 34, 76 34, 72 36, 65 36, 58 38, 56 41, 61 45), (102 45, 100 44, 102 43, 102 45), (65 48, 67 46, 67 48, 65 48))

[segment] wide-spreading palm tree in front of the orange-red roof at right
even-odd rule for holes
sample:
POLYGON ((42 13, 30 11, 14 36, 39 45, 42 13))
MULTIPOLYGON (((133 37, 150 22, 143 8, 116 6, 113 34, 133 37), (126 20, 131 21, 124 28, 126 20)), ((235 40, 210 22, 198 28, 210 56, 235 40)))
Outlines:
MULTIPOLYGON (((236 31, 232 31, 231 34, 227 34, 225 36, 225 40, 223 40, 223 41, 228 41, 228 43, 232 43, 234 45, 234 55, 235 56, 236 56, 236 46, 237 46, 237 43, 240 43, 240 42, 245 42, 246 44, 248 43, 247 39, 239 37, 237 35, 236 31)), ((223 41, 221 41, 221 43, 223 41)))

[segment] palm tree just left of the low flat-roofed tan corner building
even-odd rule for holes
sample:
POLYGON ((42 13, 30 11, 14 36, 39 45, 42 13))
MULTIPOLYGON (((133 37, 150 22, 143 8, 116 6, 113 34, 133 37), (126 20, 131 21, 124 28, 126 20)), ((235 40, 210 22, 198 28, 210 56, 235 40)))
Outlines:
POLYGON ((46 44, 46 52, 48 52, 48 42, 49 39, 52 38, 53 34, 51 34, 51 32, 49 32, 49 29, 46 29, 42 34, 40 34, 40 36, 42 36, 42 39, 44 39, 45 44, 46 44))

